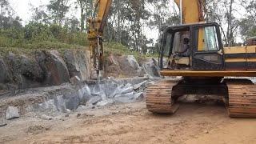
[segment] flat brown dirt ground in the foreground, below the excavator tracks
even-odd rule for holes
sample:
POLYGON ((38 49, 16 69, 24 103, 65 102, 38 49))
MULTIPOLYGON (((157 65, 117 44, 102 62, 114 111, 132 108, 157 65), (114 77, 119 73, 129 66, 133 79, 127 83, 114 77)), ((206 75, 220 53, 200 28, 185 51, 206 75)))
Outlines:
POLYGON ((256 120, 229 118, 224 106, 182 104, 155 115, 145 102, 84 110, 42 120, 34 114, 0 127, 0 143, 256 143, 256 120))

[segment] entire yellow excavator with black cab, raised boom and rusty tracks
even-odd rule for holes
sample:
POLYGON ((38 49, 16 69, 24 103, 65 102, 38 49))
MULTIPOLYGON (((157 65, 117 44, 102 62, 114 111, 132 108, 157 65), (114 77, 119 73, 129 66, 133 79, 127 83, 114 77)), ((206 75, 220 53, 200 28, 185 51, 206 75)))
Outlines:
MULTIPOLYGON (((256 77, 256 46, 223 47, 218 23, 204 22, 204 0, 174 1, 181 11, 182 25, 162 31, 159 66, 162 76, 182 78, 149 86, 147 109, 157 114, 174 114, 180 96, 210 94, 223 96, 230 117, 256 118, 256 86, 243 79, 256 77)), ((97 0, 98 12, 89 20, 92 68, 98 75, 103 70, 102 34, 111 2, 97 0)))

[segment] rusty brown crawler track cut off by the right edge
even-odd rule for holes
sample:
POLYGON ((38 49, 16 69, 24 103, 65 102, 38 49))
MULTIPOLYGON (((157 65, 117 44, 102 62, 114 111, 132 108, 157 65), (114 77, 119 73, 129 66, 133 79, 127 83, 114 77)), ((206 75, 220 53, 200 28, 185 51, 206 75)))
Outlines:
POLYGON ((227 84, 228 112, 231 118, 256 118, 256 86, 254 84, 227 84))

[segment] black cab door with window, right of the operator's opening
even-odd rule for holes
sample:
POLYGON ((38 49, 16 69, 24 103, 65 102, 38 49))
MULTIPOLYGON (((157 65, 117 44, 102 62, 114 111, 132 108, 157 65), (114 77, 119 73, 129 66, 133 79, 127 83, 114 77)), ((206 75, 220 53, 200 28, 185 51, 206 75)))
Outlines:
POLYGON ((223 70, 223 46, 218 24, 194 26, 192 33, 192 69, 223 70))

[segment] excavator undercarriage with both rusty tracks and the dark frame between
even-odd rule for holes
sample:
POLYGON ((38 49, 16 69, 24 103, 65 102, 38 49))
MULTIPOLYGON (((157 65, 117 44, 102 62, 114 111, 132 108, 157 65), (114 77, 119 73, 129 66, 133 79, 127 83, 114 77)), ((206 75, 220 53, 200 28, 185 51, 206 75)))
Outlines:
POLYGON ((146 107, 153 113, 174 114, 178 98, 185 94, 221 95, 231 118, 256 118, 256 86, 247 79, 193 82, 182 78, 158 82, 146 91, 146 107))

